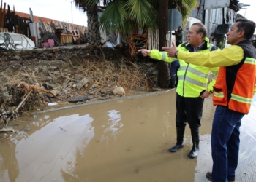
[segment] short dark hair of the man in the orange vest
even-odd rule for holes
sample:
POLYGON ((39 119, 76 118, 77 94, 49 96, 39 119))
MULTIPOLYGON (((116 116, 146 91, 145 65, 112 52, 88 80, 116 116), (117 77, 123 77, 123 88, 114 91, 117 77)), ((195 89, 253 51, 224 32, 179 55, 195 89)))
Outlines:
POLYGON ((249 40, 255 33, 255 22, 247 20, 246 18, 236 19, 238 31, 244 31, 245 39, 249 40))

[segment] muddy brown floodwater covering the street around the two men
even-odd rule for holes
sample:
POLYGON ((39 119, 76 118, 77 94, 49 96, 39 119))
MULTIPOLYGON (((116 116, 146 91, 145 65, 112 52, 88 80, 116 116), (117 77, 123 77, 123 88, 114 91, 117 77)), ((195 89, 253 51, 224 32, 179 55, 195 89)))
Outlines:
MULTIPOLYGON (((10 122, 18 132, 0 137, 0 181, 208 181, 211 122, 215 106, 205 100, 200 154, 176 153, 176 92, 159 92, 89 106, 64 108, 10 122)), ((241 125, 236 181, 256 181, 256 104, 241 125)))

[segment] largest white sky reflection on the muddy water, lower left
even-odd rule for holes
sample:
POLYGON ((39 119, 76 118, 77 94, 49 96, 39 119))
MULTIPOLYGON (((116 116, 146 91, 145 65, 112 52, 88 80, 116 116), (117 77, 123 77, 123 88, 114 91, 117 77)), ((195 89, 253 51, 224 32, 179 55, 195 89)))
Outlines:
POLYGON ((94 136, 94 130, 91 130, 93 119, 89 114, 61 116, 51 122, 49 119, 42 116, 33 122, 34 126, 41 126, 40 130, 17 143, 16 156, 20 168, 18 181, 60 179, 59 170, 62 166, 67 166, 61 169, 63 173, 72 174, 77 154, 83 154, 94 136))

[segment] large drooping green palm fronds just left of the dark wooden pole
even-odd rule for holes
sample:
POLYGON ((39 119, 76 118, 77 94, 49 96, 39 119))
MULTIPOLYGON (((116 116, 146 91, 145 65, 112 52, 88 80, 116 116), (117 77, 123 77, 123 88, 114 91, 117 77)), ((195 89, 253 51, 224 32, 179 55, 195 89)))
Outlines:
POLYGON ((154 0, 111 1, 99 17, 102 31, 130 35, 138 28, 157 28, 157 3, 154 0))

